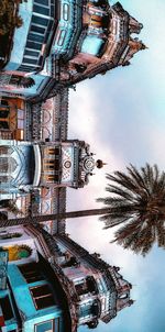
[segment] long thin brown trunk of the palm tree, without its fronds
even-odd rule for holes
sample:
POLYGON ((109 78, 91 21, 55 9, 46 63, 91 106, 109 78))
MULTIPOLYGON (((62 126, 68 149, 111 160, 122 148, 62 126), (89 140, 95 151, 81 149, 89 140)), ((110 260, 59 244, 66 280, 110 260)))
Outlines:
POLYGON ((1 220, 0 226, 6 228, 10 225, 28 224, 28 223, 40 223, 48 220, 62 220, 68 218, 80 218, 90 215, 101 215, 110 212, 110 208, 92 209, 92 210, 81 210, 81 211, 70 211, 57 214, 38 214, 36 217, 25 217, 16 219, 1 220))

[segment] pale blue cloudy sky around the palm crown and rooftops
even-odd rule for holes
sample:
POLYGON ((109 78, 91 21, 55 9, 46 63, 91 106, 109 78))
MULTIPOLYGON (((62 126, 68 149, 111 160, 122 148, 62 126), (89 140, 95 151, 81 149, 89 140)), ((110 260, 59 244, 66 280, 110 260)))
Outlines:
MULTIPOLYGON (((116 1, 111 1, 113 4, 116 1)), ((68 190, 67 210, 101 207, 106 173, 125 170, 129 163, 150 163, 165 169, 165 1, 121 0, 144 27, 140 38, 148 47, 139 52, 131 66, 97 76, 70 90, 69 137, 85 140, 97 158, 108 165, 96 170, 86 188, 68 190)), ((114 230, 102 230, 96 217, 67 221, 67 232, 90 253, 98 252, 132 285, 134 305, 119 312, 96 332, 165 332, 165 252, 154 246, 145 257, 110 244, 114 230)), ((88 331, 81 327, 79 332, 88 331)))

